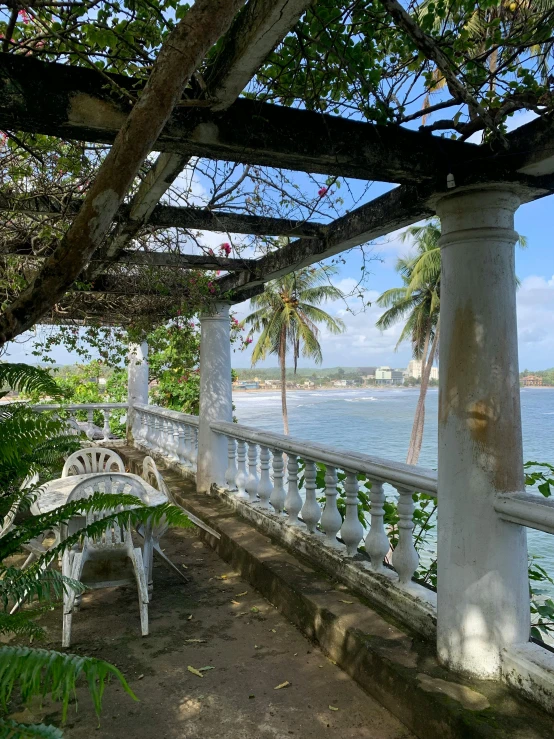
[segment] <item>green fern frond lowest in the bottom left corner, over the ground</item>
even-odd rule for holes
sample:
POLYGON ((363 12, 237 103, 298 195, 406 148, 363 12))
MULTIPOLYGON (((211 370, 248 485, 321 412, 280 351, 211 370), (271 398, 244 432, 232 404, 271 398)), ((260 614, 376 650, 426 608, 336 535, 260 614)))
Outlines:
POLYGON ((81 676, 88 683, 97 715, 106 684, 113 677, 131 698, 138 700, 117 667, 104 660, 47 649, 4 646, 0 647, 0 706, 6 710, 16 688, 23 702, 33 696, 50 695, 52 700, 61 702, 65 721, 69 701, 81 676))

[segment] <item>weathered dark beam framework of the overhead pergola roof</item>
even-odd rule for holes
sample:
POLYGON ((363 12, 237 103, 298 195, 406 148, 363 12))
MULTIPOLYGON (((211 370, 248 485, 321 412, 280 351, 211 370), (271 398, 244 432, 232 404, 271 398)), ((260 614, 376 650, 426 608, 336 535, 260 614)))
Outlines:
MULTIPOLYGON (((79 289, 72 291, 74 280, 68 280, 65 297, 52 296, 50 312, 43 311, 45 320, 88 317, 123 323, 135 314, 167 317, 177 302, 187 299, 175 277, 175 270, 183 269, 226 272, 216 281, 217 295, 240 302, 262 290, 268 280, 432 215, 437 197, 452 187, 505 182, 518 189, 523 202, 554 191, 554 125, 548 115, 503 140, 493 136, 476 145, 402 125, 376 125, 239 98, 307 6, 302 0, 250 0, 236 15, 203 75, 203 85, 196 92, 187 89, 153 143, 159 154, 148 175, 119 206, 109 233, 83 264, 79 289), (327 225, 160 204, 193 157, 399 186, 327 225), (259 259, 137 248, 141 233, 167 228, 286 236, 289 243, 259 259), (159 270, 164 294, 150 290, 143 279, 145 271, 152 270, 159 270)), ((393 11, 401 27, 404 19, 393 11)), ((422 51, 440 67, 441 58, 424 46, 422 51)), ((111 145, 127 125, 142 89, 141 81, 123 75, 0 54, 0 128, 111 145)), ((458 94, 471 109, 472 100, 458 94)), ((71 220, 84 196, 12 197, 5 190, 0 209, 18 217, 59 214, 71 220)), ((31 282, 40 282, 42 264, 56 248, 53 244, 37 254, 23 240, 4 244, 2 251, 28 260, 31 282)), ((3 335, 10 338, 9 331, 3 335)))

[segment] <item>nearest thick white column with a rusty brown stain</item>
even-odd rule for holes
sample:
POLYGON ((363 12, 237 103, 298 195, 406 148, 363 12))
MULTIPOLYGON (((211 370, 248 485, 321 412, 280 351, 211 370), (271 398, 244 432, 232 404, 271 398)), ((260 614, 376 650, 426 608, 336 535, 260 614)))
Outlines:
POLYGON ((526 531, 494 512, 524 489, 514 271, 506 186, 442 198, 438 655, 500 676, 501 652, 529 638, 526 531))

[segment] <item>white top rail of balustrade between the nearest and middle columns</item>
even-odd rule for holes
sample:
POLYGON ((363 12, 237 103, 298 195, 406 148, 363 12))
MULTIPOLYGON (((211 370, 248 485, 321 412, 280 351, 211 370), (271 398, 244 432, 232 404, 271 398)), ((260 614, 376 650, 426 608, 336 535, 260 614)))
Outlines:
POLYGON ((284 434, 262 431, 226 421, 210 424, 212 431, 251 441, 269 448, 280 449, 303 459, 324 462, 333 467, 353 472, 363 472, 373 480, 417 490, 428 495, 437 495, 437 473, 426 467, 393 462, 382 457, 351 451, 331 450, 323 444, 315 444, 303 439, 295 439, 284 434))

